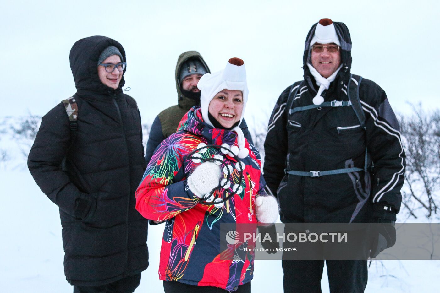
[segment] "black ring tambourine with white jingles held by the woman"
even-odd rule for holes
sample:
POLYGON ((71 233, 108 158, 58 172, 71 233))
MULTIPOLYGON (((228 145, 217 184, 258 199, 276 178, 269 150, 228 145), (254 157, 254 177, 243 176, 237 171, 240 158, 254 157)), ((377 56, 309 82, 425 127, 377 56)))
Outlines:
MULTIPOLYGON (((238 153, 238 151, 236 153, 238 153)), ((224 143, 221 146, 218 144, 207 145, 206 143, 199 143, 197 145, 197 148, 188 154, 187 159, 191 159, 196 164, 200 162, 205 163, 205 162, 213 161, 217 165, 220 165, 223 174, 227 175, 226 178, 220 180, 220 184, 216 188, 214 188, 213 190, 211 190, 209 193, 205 194, 202 197, 200 203, 202 203, 203 205, 215 205, 216 208, 221 208, 224 205, 224 203, 228 201, 230 198, 232 198, 235 194, 242 193, 243 187, 241 186, 240 183, 244 179, 243 170, 246 167, 246 165, 239 160, 239 158, 237 157, 234 151, 231 151, 231 147, 229 147, 227 143, 224 143), (202 154, 205 153, 210 147, 219 148, 222 154, 233 157, 237 162, 235 163, 234 166, 228 164, 228 162, 225 161, 225 158, 222 154, 216 154, 214 155, 214 157, 209 157, 206 159, 203 158, 202 154), (225 198, 220 198, 220 197, 214 198, 214 192, 216 190, 218 190, 217 194, 222 194, 221 192, 222 189, 229 189, 231 187, 232 172, 234 171, 234 168, 238 170, 239 179, 238 179, 238 183, 232 186, 232 193, 226 196, 225 198)))

